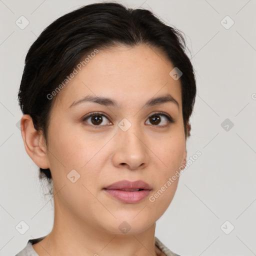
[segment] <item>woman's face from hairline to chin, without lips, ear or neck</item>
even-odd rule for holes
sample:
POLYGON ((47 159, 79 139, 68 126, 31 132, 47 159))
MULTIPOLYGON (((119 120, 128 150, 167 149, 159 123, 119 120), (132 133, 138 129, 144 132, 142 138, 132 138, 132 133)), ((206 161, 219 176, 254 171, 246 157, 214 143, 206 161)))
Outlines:
POLYGON ((168 180, 186 157, 181 84, 169 75, 173 68, 146 45, 99 50, 59 92, 46 157, 58 212, 111 233, 121 233, 126 221, 137 233, 167 209, 178 177, 171 185, 168 180), (167 94, 170 100, 146 104, 167 94), (79 101, 86 96, 110 100, 79 101), (122 201, 104 189, 120 180, 142 180, 151 190, 122 201))

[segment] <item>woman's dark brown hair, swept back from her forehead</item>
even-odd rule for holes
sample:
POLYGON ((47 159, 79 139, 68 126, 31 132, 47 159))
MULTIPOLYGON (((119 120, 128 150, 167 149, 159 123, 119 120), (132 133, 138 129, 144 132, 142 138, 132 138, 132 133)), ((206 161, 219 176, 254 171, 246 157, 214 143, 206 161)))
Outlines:
MULTIPOLYGON (((85 5, 59 17, 41 32, 26 54, 18 101, 23 114, 32 117, 34 128, 43 132, 46 144, 50 109, 56 98, 50 100, 47 95, 77 63, 95 48, 116 44, 132 47, 141 43, 160 49, 182 71, 182 116, 185 136, 190 135, 188 121, 196 85, 181 32, 149 10, 104 2, 85 5)), ((40 168, 39 177, 50 182, 50 170, 40 168)))

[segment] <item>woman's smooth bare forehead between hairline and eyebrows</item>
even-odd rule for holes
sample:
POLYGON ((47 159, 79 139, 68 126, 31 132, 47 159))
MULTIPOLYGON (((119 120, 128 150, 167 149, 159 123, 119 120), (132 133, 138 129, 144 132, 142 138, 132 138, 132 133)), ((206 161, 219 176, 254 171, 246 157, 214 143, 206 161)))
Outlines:
POLYGON ((180 80, 169 75, 173 68, 159 49, 145 44, 99 49, 57 95, 57 104, 67 108, 89 94, 114 98, 122 106, 169 93, 181 105, 180 80))

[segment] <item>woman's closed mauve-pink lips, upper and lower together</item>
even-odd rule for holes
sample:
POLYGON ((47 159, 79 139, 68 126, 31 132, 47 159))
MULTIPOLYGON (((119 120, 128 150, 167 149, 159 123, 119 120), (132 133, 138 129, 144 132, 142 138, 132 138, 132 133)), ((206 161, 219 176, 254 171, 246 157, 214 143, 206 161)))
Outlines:
POLYGON ((135 203, 143 200, 152 190, 146 182, 142 180, 128 181, 121 180, 117 181, 104 188, 111 196, 115 197, 119 201, 126 203, 135 203), (139 191, 123 191, 121 189, 142 189, 139 191))

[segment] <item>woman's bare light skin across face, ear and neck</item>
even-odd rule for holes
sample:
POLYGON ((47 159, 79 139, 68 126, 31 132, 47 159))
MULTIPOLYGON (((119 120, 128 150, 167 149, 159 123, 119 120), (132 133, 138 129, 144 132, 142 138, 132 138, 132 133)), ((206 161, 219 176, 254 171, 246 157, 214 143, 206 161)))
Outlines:
POLYGON ((160 255, 154 245, 155 221, 169 206, 178 178, 157 198, 124 203, 103 187, 127 179, 141 179, 156 193, 186 163, 181 84, 169 72, 174 66, 156 48, 140 44, 99 50, 86 66, 58 93, 50 112, 48 146, 35 130, 29 115, 21 118, 26 152, 53 179, 54 224, 52 231, 33 245, 40 255, 160 255), (145 102, 169 93, 173 102, 144 107, 145 102), (109 97, 114 106, 84 102, 69 107, 87 94, 109 97), (94 111, 105 113, 93 126, 94 111), (149 117, 162 111, 154 124, 149 117), (131 127, 123 131, 118 122, 131 127), (165 127, 163 127, 166 125, 165 127), (96 126, 96 127, 95 127, 96 126), (72 183, 67 174, 75 169, 80 178, 72 183), (127 233, 118 226, 126 221, 127 233), (97 253, 97 254, 96 254, 97 253))

